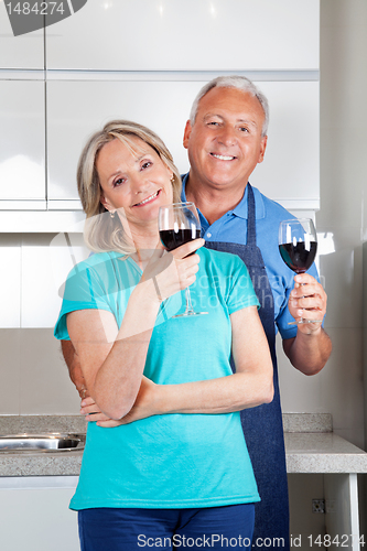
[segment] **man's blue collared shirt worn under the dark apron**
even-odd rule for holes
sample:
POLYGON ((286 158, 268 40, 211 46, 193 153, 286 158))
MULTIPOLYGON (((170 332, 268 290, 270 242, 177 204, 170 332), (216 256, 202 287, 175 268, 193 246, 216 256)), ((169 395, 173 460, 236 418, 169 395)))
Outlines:
MULTIPOLYGON (((185 185, 188 173, 183 176, 182 201, 186 201, 185 185)), ((279 224, 282 220, 294 218, 279 203, 269 199, 252 186, 256 207, 257 246, 261 250, 269 283, 274 299, 274 322, 282 338, 292 338, 296 335, 296 326, 288 325, 293 322, 288 309, 290 292, 294 287, 294 272, 281 259, 278 244, 279 224)), ((242 199, 222 218, 209 225, 199 212, 202 235, 206 241, 225 241, 246 245, 247 240, 247 187, 242 199)), ((315 264, 307 271, 319 280, 315 264)))

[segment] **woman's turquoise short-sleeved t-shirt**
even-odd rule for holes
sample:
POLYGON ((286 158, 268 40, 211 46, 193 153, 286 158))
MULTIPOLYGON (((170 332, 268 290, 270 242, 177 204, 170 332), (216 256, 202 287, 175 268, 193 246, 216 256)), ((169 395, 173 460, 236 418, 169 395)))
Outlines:
MULTIPOLYGON (((258 305, 247 268, 235 255, 202 248, 190 288, 196 317, 184 311, 184 293, 164 301, 156 317, 144 375, 160 385, 231 375, 229 315, 258 305)), ((129 257, 89 257, 68 276, 55 336, 68 339, 66 314, 111 312, 120 326, 141 270, 129 257)), ((89 422, 72 509, 93 507, 190 508, 259 500, 239 412, 163 414, 115 429, 89 422)))

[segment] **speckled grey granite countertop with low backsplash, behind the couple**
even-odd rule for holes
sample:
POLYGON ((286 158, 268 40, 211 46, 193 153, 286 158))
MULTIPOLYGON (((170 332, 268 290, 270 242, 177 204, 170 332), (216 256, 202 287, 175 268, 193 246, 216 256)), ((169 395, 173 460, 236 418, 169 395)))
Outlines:
MULTIPOLYGON (((288 473, 367 473, 367 453, 333 432, 328 413, 284 413, 288 473)), ((0 434, 85 433, 80 415, 0 415, 0 434)), ((0 453, 0 476, 78 476, 83 451, 0 453)))

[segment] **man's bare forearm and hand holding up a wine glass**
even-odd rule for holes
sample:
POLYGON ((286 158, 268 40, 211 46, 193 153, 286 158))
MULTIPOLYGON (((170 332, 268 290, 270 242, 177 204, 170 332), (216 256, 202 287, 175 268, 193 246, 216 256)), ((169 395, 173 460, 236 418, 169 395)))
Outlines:
MULTIPOLYGON (((327 296, 323 287, 310 274, 295 276, 295 285, 289 300, 294 318, 322 320, 326 313, 327 296)), ((291 364, 304 375, 315 375, 326 364, 332 342, 321 323, 299 324, 296 336, 283 341, 283 349, 291 364)))

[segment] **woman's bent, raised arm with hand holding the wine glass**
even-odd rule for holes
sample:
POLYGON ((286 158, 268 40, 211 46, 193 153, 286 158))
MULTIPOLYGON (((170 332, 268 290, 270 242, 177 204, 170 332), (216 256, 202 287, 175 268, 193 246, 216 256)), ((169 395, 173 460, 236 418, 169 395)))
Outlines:
POLYGON ((162 249, 156 249, 131 293, 120 329, 115 316, 105 310, 80 310, 67 315, 67 329, 89 395, 109 418, 121 419, 131 410, 160 303, 195 281, 199 257, 187 255, 203 242, 191 241, 164 256, 162 249))

